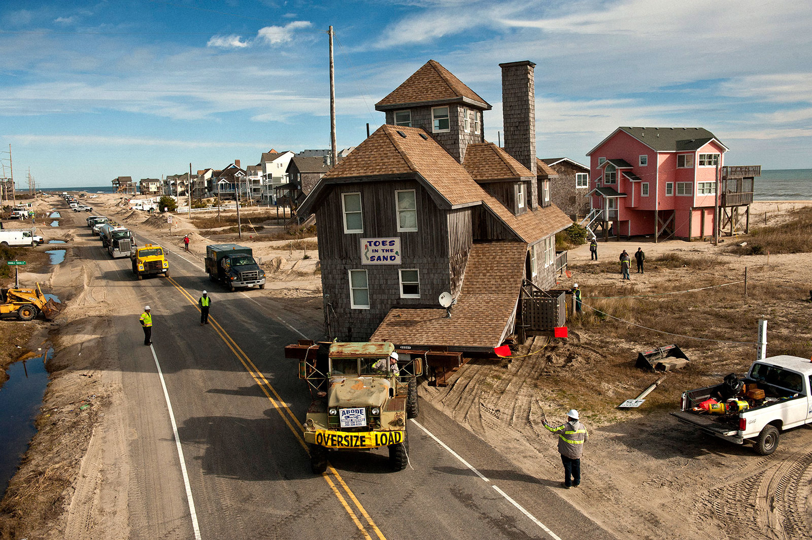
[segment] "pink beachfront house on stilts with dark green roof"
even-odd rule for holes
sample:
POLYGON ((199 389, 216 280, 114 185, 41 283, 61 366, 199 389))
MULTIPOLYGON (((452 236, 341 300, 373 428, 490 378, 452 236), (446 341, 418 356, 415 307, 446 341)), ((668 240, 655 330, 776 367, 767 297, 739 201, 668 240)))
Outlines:
POLYGON ((702 127, 618 127, 586 154, 590 221, 605 236, 711 236, 727 151, 702 127))

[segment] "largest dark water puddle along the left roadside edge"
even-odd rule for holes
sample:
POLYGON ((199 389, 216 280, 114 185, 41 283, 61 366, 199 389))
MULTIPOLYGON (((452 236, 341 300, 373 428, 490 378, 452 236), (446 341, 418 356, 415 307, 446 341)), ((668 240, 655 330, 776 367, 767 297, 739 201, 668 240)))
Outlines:
POLYGON ((11 364, 9 379, 0 388, 0 496, 17 471, 19 460, 28 449, 28 442, 37 429, 34 417, 40 411, 42 396, 48 384, 45 362, 54 356, 54 349, 31 352, 11 364), (39 354, 40 356, 34 356, 39 354), (26 357, 28 356, 28 357, 26 357))

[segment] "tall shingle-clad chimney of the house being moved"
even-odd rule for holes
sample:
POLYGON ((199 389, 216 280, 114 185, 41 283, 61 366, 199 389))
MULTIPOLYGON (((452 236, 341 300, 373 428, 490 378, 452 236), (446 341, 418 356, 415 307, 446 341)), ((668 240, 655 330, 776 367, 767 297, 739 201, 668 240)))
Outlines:
MULTIPOLYGON (((529 60, 501 63, 504 149, 536 176, 536 93, 529 60)), ((530 182, 530 208, 538 208, 538 182, 530 182)))

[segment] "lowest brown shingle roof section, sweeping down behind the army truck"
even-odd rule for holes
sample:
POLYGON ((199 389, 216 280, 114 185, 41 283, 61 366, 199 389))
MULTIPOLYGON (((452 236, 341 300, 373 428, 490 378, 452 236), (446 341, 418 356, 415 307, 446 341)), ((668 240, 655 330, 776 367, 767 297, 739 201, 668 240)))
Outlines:
POLYGON ((473 244, 462 290, 451 308, 389 310, 370 341, 455 348, 498 347, 512 328, 527 244, 473 244))

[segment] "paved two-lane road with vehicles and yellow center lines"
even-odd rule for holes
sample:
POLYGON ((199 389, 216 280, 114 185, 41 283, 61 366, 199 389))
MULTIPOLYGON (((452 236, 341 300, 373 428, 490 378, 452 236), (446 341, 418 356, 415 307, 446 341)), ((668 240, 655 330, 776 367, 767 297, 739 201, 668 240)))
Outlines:
POLYGON ((94 294, 121 305, 112 325, 130 538, 613 538, 560 499, 557 482, 521 473, 425 403, 408 428, 404 471, 390 472, 383 449, 335 453, 327 473, 313 475, 298 434, 309 393, 283 346, 321 335, 321 322, 264 292, 226 292, 202 261, 168 247, 171 277, 140 282, 128 259, 110 260, 100 244, 76 249, 97 259, 92 287, 104 292, 94 294), (209 326, 197 311, 204 288, 209 326), (147 304, 152 347, 136 322, 147 304))

